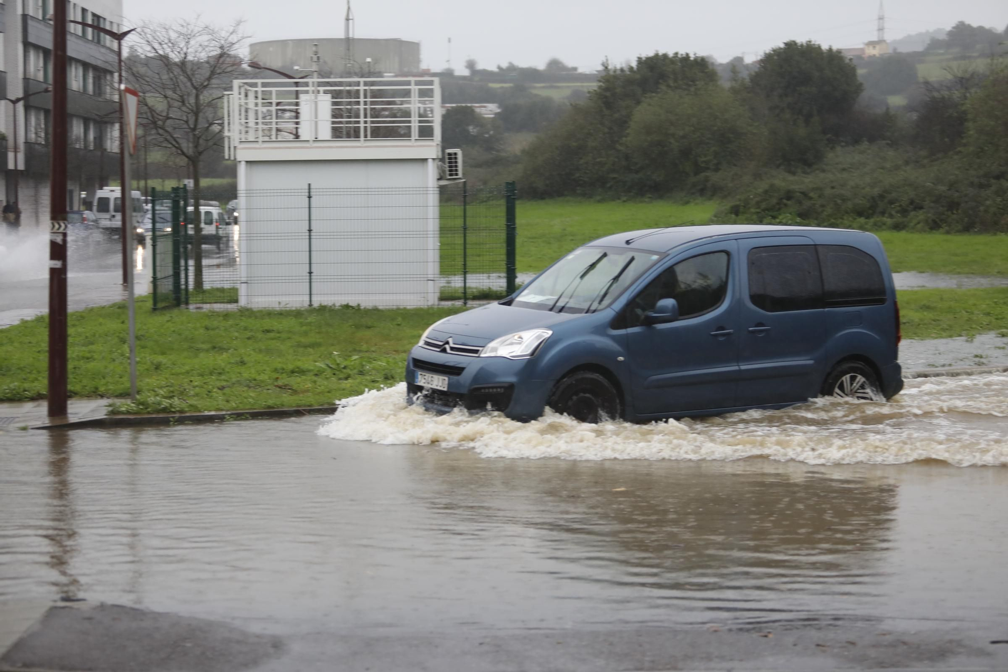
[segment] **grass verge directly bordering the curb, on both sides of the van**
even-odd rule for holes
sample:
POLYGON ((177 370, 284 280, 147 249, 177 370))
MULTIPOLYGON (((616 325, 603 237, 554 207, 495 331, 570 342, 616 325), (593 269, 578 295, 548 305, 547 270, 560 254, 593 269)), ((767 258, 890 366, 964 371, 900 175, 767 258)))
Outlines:
MULTIPOLYGON (((899 294, 906 338, 1001 331, 1008 288, 899 294)), ((120 413, 241 411, 332 404, 402 379, 406 352, 430 323, 461 308, 314 308, 151 312, 138 301, 140 399, 120 413)), ((0 400, 45 396, 46 317, 3 330, 0 400)), ((70 315, 74 397, 128 394, 126 308, 70 315)))

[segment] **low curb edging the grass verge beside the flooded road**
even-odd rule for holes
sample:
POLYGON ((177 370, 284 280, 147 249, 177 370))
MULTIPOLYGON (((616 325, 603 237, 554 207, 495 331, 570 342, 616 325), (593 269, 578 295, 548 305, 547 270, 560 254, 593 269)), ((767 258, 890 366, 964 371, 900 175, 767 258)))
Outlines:
MULTIPOLYGON (((982 375, 984 373, 1008 373, 1008 366, 961 366, 933 368, 903 373, 904 380, 914 378, 955 377, 982 375)), ((295 409, 259 409, 251 411, 205 411, 198 413, 134 414, 122 416, 94 416, 45 425, 34 425, 30 429, 78 429, 84 427, 135 427, 138 425, 174 425, 179 423, 220 422, 224 420, 246 420, 250 418, 287 418, 290 416, 311 416, 336 413, 339 405, 309 406, 295 409)))

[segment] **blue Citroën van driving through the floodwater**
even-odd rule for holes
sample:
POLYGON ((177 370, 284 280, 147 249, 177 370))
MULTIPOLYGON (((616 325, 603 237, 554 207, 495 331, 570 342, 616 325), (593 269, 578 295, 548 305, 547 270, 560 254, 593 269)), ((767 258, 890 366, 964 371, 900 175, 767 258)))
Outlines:
POLYGON ((650 421, 903 387, 877 237, 794 226, 630 231, 579 247, 504 301, 431 325, 407 401, 528 421, 650 421))

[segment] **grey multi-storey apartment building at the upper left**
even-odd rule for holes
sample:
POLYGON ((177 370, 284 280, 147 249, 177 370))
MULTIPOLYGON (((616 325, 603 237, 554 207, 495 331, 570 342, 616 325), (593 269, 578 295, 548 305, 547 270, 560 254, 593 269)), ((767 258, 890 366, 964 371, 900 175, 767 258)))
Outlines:
MULTIPOLYGON (((50 0, 0 4, 0 129, 6 135, 5 200, 17 201, 21 225, 47 227, 52 97, 50 0), (27 96, 27 98, 24 98, 27 96), (21 102, 13 103, 19 98, 21 102), (15 141, 16 140, 16 141, 15 141)), ((122 0, 68 3, 68 18, 122 30, 122 0)), ((69 114, 67 205, 82 209, 119 176, 116 43, 70 24, 67 36, 69 114), (83 196, 82 196, 83 193, 83 196)))

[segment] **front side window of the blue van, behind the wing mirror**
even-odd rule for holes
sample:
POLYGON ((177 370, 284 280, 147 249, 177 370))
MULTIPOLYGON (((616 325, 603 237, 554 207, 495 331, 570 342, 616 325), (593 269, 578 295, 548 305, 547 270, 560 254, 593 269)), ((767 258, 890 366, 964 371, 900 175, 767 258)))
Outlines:
POLYGON ((679 261, 661 271, 634 297, 624 311, 624 319, 614 328, 640 326, 644 313, 654 310, 661 299, 679 304, 679 319, 713 311, 728 292, 728 252, 710 252, 679 261))

